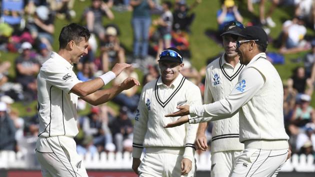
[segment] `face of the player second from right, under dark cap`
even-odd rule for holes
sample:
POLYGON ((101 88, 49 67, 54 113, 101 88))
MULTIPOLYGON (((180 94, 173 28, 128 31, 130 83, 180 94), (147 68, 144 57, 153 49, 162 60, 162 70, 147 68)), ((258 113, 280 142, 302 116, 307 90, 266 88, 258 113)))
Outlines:
POLYGON ((237 35, 225 34, 223 35, 223 47, 227 57, 237 56, 236 50, 237 35))

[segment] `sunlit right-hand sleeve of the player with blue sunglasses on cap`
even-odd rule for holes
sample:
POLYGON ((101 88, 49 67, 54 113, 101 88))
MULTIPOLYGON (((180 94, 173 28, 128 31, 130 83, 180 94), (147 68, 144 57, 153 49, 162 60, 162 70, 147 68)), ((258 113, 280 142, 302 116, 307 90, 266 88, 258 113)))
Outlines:
MULTIPOLYGON (((202 98, 199 87, 194 86, 193 89, 189 89, 189 92, 187 92, 186 95, 188 105, 202 105, 202 98)), ((198 124, 185 123, 185 126, 187 133, 183 157, 194 161, 194 152, 196 150, 194 146, 194 140, 196 138, 198 124)))

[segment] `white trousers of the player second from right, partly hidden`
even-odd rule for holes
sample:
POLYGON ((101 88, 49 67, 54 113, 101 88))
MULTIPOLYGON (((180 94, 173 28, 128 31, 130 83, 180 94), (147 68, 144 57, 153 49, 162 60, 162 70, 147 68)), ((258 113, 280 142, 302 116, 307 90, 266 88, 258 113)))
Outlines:
POLYGON ((241 150, 228 150, 211 153, 211 177, 228 177, 240 152, 241 150))

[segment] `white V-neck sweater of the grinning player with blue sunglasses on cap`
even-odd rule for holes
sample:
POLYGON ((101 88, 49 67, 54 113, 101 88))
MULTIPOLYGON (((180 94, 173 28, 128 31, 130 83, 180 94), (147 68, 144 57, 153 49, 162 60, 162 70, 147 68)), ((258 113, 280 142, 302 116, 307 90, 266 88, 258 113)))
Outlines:
POLYGON ((135 116, 132 157, 139 158, 143 147, 161 147, 161 151, 168 147, 182 147, 183 156, 193 161, 198 124, 185 123, 173 128, 164 128, 167 123, 180 117, 164 115, 177 111, 177 105, 201 103, 199 87, 180 73, 170 86, 163 84, 160 77, 145 84, 135 116))

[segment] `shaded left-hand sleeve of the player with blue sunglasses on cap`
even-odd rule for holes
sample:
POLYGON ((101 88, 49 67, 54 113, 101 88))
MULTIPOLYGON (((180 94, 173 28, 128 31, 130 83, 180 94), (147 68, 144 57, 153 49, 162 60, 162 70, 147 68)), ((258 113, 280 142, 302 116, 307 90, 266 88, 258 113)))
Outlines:
POLYGON ((135 113, 135 121, 133 128, 133 141, 132 141, 132 157, 140 158, 143 150, 143 140, 147 130, 147 118, 148 111, 145 106, 145 88, 143 88, 142 93, 140 95, 140 100, 138 103, 138 107, 135 113))

